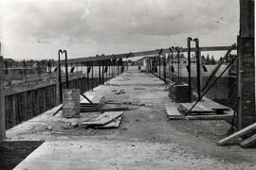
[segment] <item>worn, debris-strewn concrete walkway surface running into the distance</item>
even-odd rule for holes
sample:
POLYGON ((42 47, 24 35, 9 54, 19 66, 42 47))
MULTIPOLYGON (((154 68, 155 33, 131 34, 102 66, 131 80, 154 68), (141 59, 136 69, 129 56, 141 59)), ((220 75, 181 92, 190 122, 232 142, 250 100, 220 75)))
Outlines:
POLYGON ((228 123, 169 121, 164 107, 176 103, 163 90, 155 76, 130 70, 93 92, 132 109, 117 129, 68 127, 95 113, 67 120, 51 116, 57 108, 9 129, 8 140, 46 140, 16 169, 256 169, 255 149, 216 145, 228 123))

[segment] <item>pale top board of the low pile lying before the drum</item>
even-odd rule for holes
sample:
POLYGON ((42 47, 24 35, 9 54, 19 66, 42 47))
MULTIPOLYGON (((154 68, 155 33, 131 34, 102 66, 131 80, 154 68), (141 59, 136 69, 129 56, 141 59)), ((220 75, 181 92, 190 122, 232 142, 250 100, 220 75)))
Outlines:
POLYGON ((108 111, 104 112, 101 115, 99 115, 97 118, 91 119, 90 121, 87 122, 82 122, 81 126, 82 127, 87 127, 87 126, 101 126, 105 125, 109 122, 111 122, 113 119, 118 118, 121 116, 123 111, 108 111))

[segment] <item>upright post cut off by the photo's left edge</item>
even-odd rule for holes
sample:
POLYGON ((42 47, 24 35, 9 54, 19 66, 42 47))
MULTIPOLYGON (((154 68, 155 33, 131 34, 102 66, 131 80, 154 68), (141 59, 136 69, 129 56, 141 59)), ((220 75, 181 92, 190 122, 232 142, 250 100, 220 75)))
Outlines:
MULTIPOLYGON (((1 44, 0 44, 1 46, 1 44)), ((1 49, 0 49, 1 55, 1 49)), ((0 142, 6 138, 6 110, 5 110, 5 93, 4 93, 4 70, 3 57, 0 56, 0 142)))

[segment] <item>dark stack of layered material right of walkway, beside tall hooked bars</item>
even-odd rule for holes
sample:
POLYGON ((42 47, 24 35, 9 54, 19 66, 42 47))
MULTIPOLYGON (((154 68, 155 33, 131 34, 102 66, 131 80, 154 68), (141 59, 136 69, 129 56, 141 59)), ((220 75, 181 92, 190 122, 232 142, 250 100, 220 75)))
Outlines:
POLYGON ((173 85, 169 96, 177 103, 190 102, 190 88, 188 84, 173 85))

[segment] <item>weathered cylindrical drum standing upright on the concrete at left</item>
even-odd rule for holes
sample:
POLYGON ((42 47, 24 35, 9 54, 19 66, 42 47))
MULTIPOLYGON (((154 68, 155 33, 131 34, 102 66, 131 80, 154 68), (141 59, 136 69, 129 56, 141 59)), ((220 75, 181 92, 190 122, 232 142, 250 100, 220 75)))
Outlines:
POLYGON ((63 117, 73 118, 80 116, 80 89, 64 89, 63 117))

